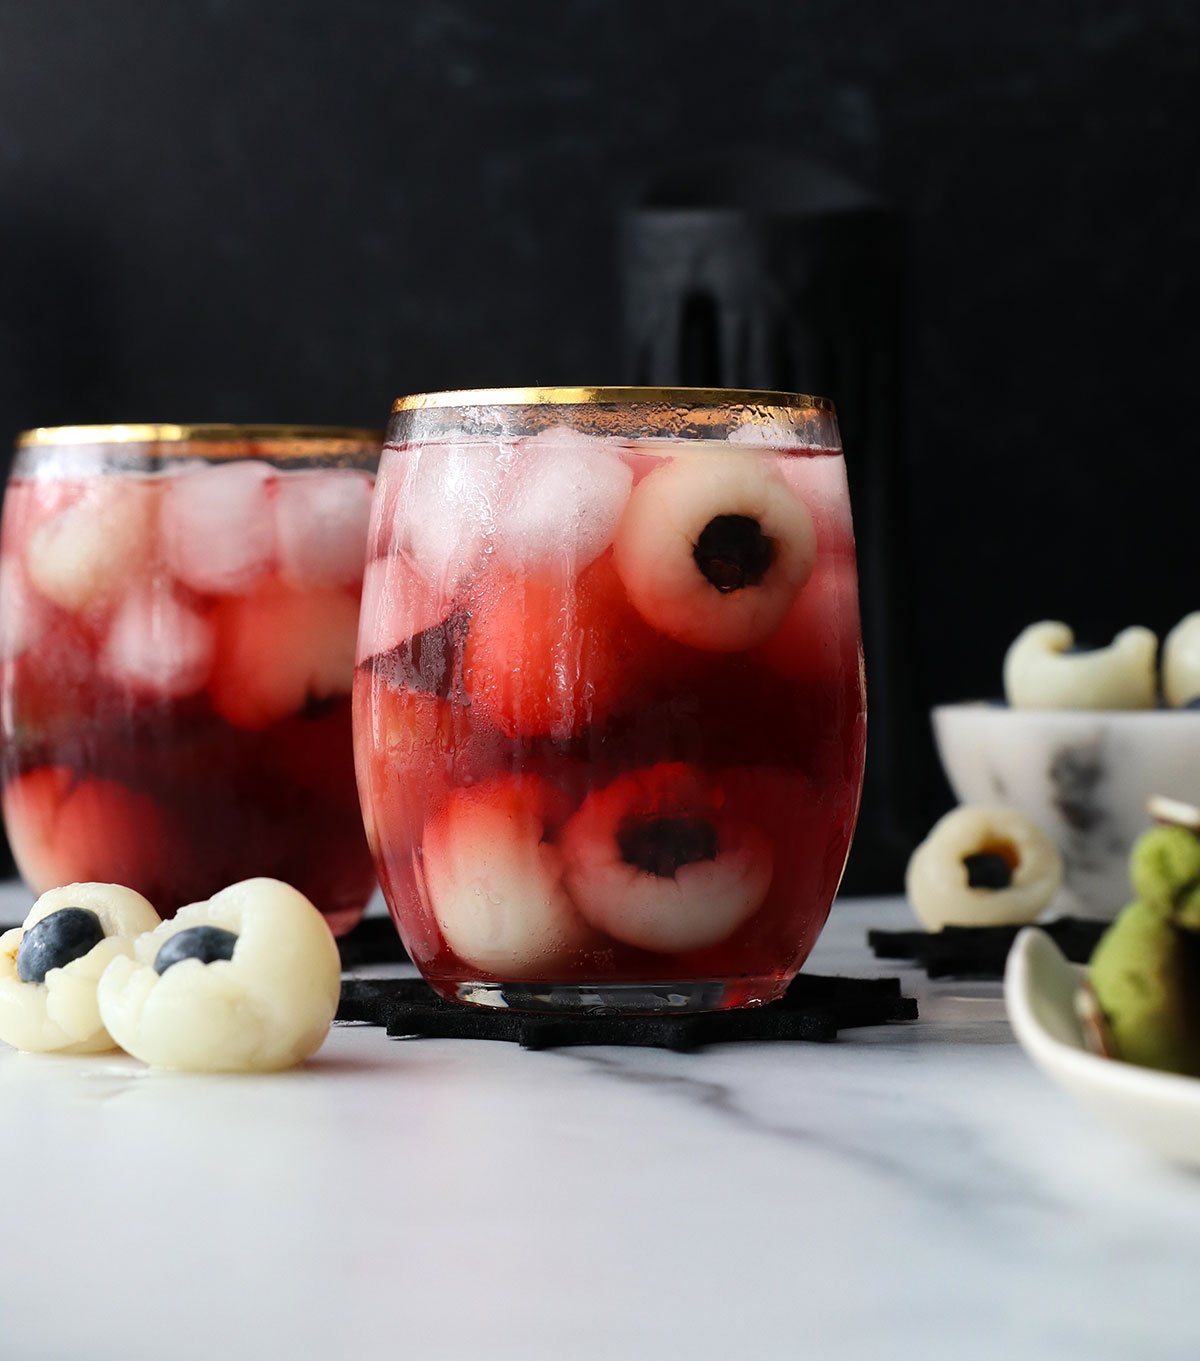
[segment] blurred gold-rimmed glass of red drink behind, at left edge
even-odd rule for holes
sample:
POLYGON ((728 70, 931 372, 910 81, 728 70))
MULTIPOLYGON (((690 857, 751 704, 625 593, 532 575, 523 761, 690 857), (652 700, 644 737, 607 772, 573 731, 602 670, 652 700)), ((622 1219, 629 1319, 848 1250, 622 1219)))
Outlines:
POLYGON ((163 915, 294 883, 335 931, 374 886, 350 690, 380 436, 72 426, 18 441, 0 543, 4 818, 34 891, 163 915))

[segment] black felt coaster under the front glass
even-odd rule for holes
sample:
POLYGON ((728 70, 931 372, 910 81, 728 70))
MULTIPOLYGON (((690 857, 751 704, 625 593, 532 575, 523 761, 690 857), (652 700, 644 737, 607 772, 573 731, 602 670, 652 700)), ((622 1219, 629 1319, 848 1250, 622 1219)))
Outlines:
POLYGON ((838 1030, 916 1021, 917 1003, 899 979, 829 979, 800 974, 785 996, 765 1007, 686 1017, 541 1015, 505 1007, 444 1002, 420 979, 347 979, 339 1021, 386 1026, 393 1038, 509 1040, 525 1049, 620 1044, 698 1049, 731 1040, 835 1040, 838 1030))

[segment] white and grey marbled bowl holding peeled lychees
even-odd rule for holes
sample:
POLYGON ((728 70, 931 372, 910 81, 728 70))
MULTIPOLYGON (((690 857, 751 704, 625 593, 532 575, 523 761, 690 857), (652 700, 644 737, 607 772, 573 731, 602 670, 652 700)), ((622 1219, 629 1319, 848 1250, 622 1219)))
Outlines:
POLYGON ((1155 793, 1200 803, 1200 710, 1128 713, 948 704, 933 736, 961 803, 1007 803, 1063 852, 1054 902, 1114 917, 1132 898, 1129 849, 1155 793))

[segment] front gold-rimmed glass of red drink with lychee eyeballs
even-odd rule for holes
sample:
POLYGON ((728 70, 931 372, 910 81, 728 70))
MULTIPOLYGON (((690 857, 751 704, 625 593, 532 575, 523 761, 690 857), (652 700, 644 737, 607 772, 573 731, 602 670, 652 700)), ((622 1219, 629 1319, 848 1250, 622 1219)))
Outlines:
POLYGON ((367 838, 444 996, 688 1011, 780 996, 850 845, 865 710, 818 397, 404 397, 355 676, 367 838))

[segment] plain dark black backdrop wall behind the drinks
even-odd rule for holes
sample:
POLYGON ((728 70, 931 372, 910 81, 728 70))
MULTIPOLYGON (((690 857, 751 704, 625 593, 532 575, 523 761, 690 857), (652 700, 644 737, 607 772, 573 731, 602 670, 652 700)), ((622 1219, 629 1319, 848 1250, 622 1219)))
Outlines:
POLYGON ((0 0, 0 437, 619 380, 622 210, 815 155, 907 225, 922 698, 996 691, 1030 618, 1200 607, 1197 45, 1192 0, 0 0))

